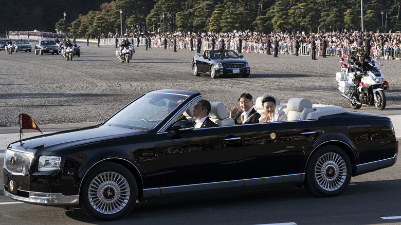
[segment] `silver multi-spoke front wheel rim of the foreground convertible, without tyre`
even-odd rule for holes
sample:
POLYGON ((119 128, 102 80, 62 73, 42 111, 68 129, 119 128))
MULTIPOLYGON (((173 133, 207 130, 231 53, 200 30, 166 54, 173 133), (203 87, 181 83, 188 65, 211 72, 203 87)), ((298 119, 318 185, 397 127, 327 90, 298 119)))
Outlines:
POLYGON ((88 198, 97 212, 115 214, 130 200, 130 185, 120 174, 104 172, 90 182, 88 198))

